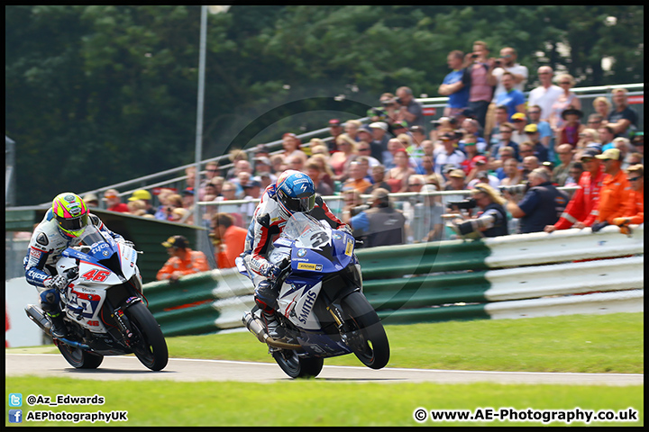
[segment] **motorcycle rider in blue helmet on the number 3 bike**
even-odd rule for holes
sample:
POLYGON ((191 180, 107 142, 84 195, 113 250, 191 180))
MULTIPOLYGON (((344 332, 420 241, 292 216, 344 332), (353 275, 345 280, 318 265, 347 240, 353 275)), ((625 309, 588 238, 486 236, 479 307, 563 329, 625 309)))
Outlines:
POLYGON ((279 322, 274 311, 277 308, 279 287, 273 284, 279 276, 278 266, 266 259, 272 243, 284 230, 287 220, 296 212, 304 212, 317 220, 326 220, 332 228, 352 230, 329 210, 320 195, 315 193, 313 180, 299 171, 287 170, 270 184, 261 196, 254 211, 244 254, 249 255, 251 279, 255 287, 254 300, 261 310, 269 336, 279 338, 279 322))

